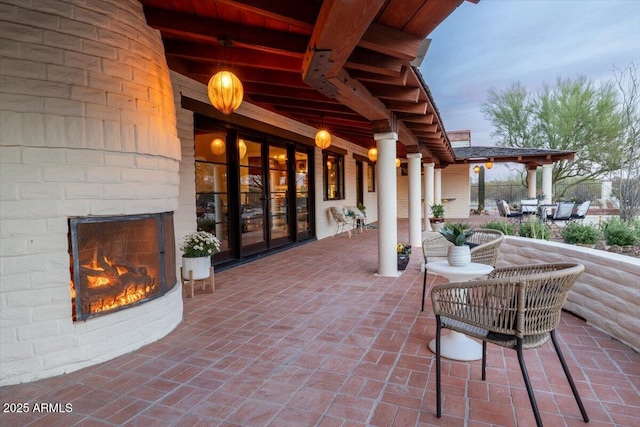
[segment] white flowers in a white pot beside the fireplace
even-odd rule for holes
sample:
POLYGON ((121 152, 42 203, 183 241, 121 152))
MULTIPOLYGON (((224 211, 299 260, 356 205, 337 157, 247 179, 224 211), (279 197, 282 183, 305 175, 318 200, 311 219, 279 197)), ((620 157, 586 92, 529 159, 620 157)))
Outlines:
POLYGON ((207 231, 197 231, 185 236, 180 245, 182 251, 182 277, 201 280, 210 275, 211 256, 220 252, 220 240, 207 231), (193 272, 193 277, 189 276, 193 272))

